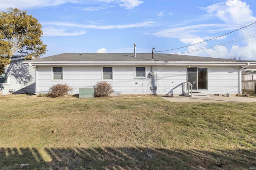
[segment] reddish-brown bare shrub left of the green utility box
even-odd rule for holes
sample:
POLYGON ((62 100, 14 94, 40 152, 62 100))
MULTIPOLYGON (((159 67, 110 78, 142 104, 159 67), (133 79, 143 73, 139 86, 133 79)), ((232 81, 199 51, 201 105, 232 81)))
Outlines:
POLYGON ((55 84, 49 88, 48 96, 51 98, 56 98, 60 96, 67 95, 69 92, 72 92, 73 88, 68 86, 68 84, 55 84))

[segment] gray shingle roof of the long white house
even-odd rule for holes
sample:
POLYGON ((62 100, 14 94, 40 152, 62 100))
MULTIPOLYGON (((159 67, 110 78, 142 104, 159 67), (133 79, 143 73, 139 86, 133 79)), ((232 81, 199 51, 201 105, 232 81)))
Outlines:
MULTIPOLYGON (((53 55, 50 57, 43 57, 34 61, 42 62, 58 62, 58 61, 151 61, 152 54, 150 53, 137 53, 134 57, 133 53, 63 53, 53 55)), ((219 59, 211 57, 196 57, 188 55, 172 55, 154 53, 154 61, 238 61, 232 59, 219 59)))

